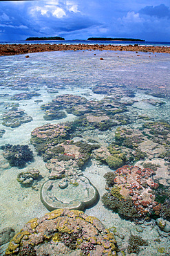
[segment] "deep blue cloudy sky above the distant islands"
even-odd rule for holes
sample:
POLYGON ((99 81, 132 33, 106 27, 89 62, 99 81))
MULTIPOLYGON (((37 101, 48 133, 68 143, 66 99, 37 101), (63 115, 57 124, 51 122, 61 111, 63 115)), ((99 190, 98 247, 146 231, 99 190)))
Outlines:
POLYGON ((0 41, 27 37, 170 42, 170 0, 0 1, 0 41))

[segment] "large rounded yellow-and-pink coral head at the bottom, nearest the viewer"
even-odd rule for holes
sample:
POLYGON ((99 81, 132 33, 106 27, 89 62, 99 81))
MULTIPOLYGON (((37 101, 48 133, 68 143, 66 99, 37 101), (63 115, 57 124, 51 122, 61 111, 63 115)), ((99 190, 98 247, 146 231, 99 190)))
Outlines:
POLYGON ((59 209, 28 221, 6 255, 116 255, 116 240, 95 217, 59 209))

